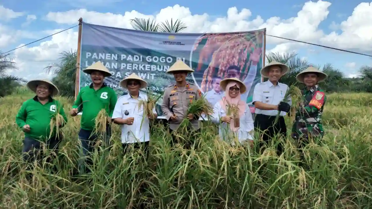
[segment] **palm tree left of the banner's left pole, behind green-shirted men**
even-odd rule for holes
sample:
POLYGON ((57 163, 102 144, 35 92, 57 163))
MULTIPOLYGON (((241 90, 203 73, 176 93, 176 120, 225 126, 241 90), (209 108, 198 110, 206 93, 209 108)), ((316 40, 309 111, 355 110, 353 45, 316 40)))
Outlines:
POLYGON ((60 53, 59 62, 45 67, 45 70, 55 74, 52 82, 60 90, 61 96, 70 98, 75 96, 76 60, 76 50, 64 51, 60 53))

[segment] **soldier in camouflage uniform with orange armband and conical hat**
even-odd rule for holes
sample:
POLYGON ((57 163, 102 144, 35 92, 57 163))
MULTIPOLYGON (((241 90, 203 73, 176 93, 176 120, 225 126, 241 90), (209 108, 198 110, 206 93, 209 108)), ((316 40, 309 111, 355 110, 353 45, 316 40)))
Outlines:
POLYGON ((299 149, 309 143, 309 138, 320 139, 324 135, 321 115, 327 97, 318 83, 326 78, 327 74, 312 66, 296 76, 299 82, 306 85, 306 88, 302 90, 302 102, 296 111, 291 134, 292 138, 297 141, 299 149))

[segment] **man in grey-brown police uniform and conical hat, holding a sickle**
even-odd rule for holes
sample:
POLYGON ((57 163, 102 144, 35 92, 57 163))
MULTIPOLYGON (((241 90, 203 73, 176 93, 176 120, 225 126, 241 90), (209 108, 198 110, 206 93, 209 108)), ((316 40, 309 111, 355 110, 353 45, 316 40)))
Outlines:
MULTIPOLYGON (((163 95, 163 103, 161 110, 169 122, 171 131, 177 131, 183 119, 187 118, 192 124, 192 129, 198 131, 199 121, 192 114, 187 114, 189 103, 193 100, 199 99, 202 92, 193 84, 187 83, 186 77, 192 70, 181 60, 177 60, 167 71, 173 74, 176 84, 166 88, 163 95)), ((176 138, 173 136, 172 144, 176 143, 176 138)))

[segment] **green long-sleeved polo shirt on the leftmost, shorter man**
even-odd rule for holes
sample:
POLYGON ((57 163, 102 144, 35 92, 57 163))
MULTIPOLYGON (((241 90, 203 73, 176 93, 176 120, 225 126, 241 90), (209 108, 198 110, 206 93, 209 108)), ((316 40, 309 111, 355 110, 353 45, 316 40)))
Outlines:
POLYGON ((49 101, 43 105, 35 96, 23 102, 16 116, 16 123, 19 128, 23 128, 24 125, 30 126, 30 132, 25 132, 25 136, 46 141, 50 134, 50 120, 56 112, 59 112, 67 123, 67 117, 60 102, 50 97, 49 101))

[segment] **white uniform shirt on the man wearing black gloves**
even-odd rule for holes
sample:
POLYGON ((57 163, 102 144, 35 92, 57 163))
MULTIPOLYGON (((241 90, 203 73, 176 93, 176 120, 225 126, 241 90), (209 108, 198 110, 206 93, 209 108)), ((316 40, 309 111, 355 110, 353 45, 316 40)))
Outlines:
MULTIPOLYGON (((288 86, 283 83, 279 83, 274 86, 270 81, 265 81, 256 84, 253 91, 252 102, 263 102, 270 105, 279 105, 284 100, 284 96, 288 90, 288 86)), ((292 105, 291 97, 289 97, 289 105, 292 105)), ((263 114, 269 116, 278 115, 278 110, 261 110, 256 108, 256 114, 263 114)), ((281 111, 280 116, 285 116, 286 112, 281 111)))

